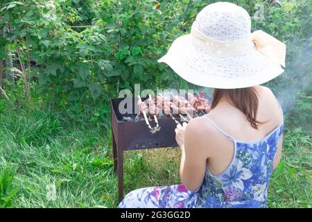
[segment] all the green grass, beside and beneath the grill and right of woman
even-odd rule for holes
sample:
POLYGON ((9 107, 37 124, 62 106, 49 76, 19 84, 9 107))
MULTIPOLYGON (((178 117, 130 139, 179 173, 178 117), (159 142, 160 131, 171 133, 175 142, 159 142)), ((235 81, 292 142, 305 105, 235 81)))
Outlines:
MULTIPOLYGON (((116 207, 109 117, 108 104, 65 111, 0 100, 0 206, 116 207)), ((286 130, 270 207, 311 207, 311 145, 304 130, 286 130)), ((179 148, 127 151, 125 193, 180 182, 179 164, 179 148)))

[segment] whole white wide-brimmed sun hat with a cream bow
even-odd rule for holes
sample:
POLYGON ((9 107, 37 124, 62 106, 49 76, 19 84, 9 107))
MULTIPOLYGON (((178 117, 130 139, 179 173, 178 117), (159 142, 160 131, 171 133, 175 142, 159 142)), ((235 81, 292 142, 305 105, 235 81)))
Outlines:
POLYGON ((286 45, 250 29, 245 9, 227 2, 210 4, 198 13, 191 33, 178 37, 158 62, 204 87, 236 89, 266 83, 284 71, 286 45))

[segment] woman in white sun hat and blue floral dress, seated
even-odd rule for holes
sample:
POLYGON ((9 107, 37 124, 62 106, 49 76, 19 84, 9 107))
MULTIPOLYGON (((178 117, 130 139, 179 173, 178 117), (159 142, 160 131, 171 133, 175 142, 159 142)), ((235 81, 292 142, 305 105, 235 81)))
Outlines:
POLYGON ((211 4, 159 60, 213 87, 211 112, 175 129, 182 184, 137 189, 119 207, 267 207, 284 125, 277 99, 260 84, 284 71, 286 46, 250 26, 243 8, 211 4))

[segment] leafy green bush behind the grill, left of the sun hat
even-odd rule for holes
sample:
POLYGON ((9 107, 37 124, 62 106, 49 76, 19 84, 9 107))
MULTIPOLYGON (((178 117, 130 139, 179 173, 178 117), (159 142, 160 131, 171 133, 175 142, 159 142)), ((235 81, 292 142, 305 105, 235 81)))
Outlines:
POLYGON ((176 77, 157 64, 157 57, 166 50, 166 40, 171 42, 172 35, 181 35, 179 25, 194 14, 187 1, 171 3, 181 11, 188 9, 181 18, 162 15, 166 5, 157 1, 121 1, 121 5, 101 1, 94 10, 94 26, 80 33, 69 26, 64 15, 67 10, 63 8, 70 3, 3 4, 1 24, 6 24, 3 28, 7 32, 2 47, 12 52, 17 47, 25 49, 24 61, 35 62, 28 72, 38 79, 40 91, 52 92, 55 99, 107 98, 112 89, 132 88, 134 82, 155 87, 155 83, 176 77))

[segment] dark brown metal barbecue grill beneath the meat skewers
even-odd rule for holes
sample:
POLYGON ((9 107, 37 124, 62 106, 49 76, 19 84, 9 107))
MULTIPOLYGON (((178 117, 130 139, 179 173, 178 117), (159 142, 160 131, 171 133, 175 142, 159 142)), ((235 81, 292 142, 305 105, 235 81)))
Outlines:
MULTIPOLYGON (((147 98, 142 98, 142 101, 145 99, 147 98)), ((135 121, 137 117, 135 105, 139 99, 125 98, 126 104, 132 103, 132 114, 119 112, 119 103, 123 100, 124 98, 110 100, 114 171, 118 174, 119 201, 123 199, 123 151, 177 146, 175 141, 177 123, 171 117, 160 117, 158 122, 161 129, 157 133, 150 133, 144 119, 135 121)), ((202 114, 205 113, 198 115, 202 114)), ((180 123, 185 121, 177 114, 174 116, 180 123)))

